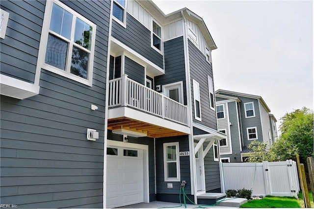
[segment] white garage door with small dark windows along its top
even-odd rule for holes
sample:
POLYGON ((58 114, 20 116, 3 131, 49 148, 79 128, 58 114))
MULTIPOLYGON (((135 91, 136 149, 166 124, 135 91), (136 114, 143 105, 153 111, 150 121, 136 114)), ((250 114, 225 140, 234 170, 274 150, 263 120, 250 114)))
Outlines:
POLYGON ((144 202, 143 150, 108 146, 106 208, 144 202))

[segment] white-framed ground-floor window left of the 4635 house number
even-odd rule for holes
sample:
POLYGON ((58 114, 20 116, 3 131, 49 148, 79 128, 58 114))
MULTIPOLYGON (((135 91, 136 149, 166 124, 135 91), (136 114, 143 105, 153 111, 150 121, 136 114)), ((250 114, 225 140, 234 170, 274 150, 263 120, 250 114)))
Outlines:
POLYGON ((179 142, 163 144, 164 180, 180 182, 179 142))

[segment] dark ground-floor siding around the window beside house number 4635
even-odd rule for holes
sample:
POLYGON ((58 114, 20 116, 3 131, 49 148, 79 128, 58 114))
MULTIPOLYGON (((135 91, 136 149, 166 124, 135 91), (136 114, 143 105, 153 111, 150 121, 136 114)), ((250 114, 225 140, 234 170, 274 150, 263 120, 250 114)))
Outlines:
MULTIPOLYGON (((157 180, 157 194, 178 194, 180 192, 181 182, 165 182, 163 169, 163 144, 169 142, 179 142, 179 151, 189 151, 188 136, 175 136, 158 138, 156 140, 156 180, 157 180), (167 188, 167 183, 173 183, 173 188, 167 188)), ((189 156, 180 157, 180 173, 181 181, 187 182, 185 186, 185 193, 191 194, 190 183, 190 158, 189 156)), ((162 200, 160 200, 162 201, 162 200)))

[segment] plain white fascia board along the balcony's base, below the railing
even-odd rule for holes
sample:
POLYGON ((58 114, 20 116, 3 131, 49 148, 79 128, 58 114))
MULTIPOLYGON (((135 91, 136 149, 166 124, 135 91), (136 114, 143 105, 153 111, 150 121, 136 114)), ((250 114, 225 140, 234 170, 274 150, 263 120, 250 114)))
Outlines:
POLYGON ((108 110, 108 119, 127 117, 137 121, 141 121, 148 124, 153 124, 166 129, 171 127, 171 130, 180 131, 186 134, 190 134, 190 128, 175 122, 168 121, 166 119, 132 109, 130 107, 121 106, 108 110))

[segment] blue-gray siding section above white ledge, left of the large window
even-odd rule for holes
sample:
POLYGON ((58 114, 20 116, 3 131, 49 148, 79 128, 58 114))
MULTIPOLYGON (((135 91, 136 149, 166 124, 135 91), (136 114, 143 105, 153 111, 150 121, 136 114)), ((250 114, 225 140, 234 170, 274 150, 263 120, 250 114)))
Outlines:
POLYGON ((45 1, 3 0, 1 9, 9 13, 5 38, 0 42, 1 74, 33 83, 45 1))

